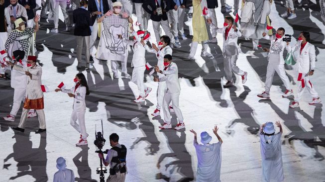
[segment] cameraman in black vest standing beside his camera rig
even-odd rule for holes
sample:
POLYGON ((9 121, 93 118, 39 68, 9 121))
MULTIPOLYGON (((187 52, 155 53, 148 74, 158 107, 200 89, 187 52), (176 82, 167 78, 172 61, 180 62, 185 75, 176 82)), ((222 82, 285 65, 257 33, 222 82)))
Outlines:
POLYGON ((103 160, 103 164, 109 164, 109 177, 106 182, 124 182, 126 175, 126 148, 118 143, 118 135, 109 135, 109 143, 112 147, 108 150, 106 159, 102 153, 98 156, 103 160))

